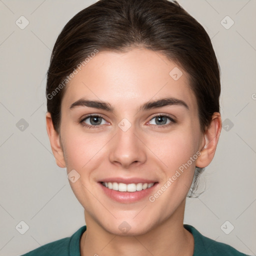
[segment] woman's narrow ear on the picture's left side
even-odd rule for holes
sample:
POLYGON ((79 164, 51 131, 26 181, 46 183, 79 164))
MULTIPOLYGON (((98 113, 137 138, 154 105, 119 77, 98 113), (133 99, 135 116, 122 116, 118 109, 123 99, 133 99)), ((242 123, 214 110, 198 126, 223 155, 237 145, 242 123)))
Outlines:
POLYGON ((55 157, 56 164, 59 167, 64 168, 66 167, 66 164, 64 161, 63 150, 60 145, 60 136, 53 127, 51 114, 49 112, 46 113, 46 129, 47 129, 51 150, 55 157))

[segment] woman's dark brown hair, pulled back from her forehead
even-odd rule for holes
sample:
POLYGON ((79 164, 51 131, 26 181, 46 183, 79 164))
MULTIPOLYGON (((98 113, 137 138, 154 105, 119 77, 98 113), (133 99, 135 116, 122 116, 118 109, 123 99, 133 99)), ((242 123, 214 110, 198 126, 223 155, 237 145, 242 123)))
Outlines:
MULTIPOLYGON (((213 112, 219 112, 220 77, 204 28, 176 1, 99 0, 66 23, 52 50, 46 97, 57 132, 65 92, 63 81, 68 82, 66 77, 77 64, 95 49, 121 52, 136 46, 163 53, 189 74, 200 127, 206 129, 213 112)), ((196 167, 196 179, 202 170, 196 167)))

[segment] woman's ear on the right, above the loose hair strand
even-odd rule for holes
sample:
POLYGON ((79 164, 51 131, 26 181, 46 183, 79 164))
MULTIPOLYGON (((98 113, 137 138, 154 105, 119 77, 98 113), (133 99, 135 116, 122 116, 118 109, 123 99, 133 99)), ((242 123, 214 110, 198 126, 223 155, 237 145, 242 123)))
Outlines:
POLYGON ((200 155, 197 157, 195 166, 204 168, 211 162, 218 143, 221 131, 221 117, 219 112, 214 112, 211 122, 204 132, 204 143, 200 155))

